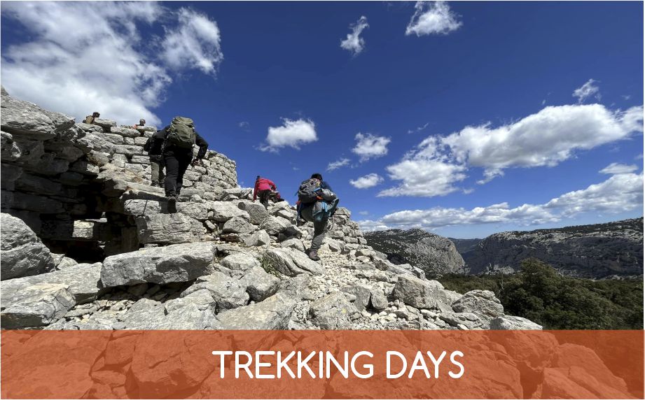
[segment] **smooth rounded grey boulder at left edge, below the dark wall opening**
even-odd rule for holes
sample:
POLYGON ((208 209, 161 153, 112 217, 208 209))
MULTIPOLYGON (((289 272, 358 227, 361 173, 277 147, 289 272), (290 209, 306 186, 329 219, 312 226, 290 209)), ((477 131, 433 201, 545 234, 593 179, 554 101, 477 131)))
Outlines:
POLYGON ((0 235, 2 280, 38 275, 55 269, 49 249, 20 218, 1 213, 0 235))

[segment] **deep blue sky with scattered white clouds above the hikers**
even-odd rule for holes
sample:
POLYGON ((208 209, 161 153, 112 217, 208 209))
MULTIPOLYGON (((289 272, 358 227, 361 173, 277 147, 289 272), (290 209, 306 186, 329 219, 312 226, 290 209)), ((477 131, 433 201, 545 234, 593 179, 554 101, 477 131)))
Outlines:
POLYGON ((641 2, 1 8, 11 94, 123 124, 192 117, 241 185, 267 176, 293 203, 321 172, 365 229, 643 215, 641 2))

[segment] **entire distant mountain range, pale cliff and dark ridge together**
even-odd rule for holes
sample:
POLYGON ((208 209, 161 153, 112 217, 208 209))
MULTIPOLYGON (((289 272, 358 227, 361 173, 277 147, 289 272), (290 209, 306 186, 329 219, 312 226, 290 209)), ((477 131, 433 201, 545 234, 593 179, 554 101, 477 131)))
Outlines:
POLYGON ((507 231, 484 239, 444 238, 423 229, 365 234, 391 262, 426 273, 513 273, 522 260, 540 259, 578 278, 643 273, 643 218, 534 231, 507 231), (458 254, 455 254, 458 253, 458 254))

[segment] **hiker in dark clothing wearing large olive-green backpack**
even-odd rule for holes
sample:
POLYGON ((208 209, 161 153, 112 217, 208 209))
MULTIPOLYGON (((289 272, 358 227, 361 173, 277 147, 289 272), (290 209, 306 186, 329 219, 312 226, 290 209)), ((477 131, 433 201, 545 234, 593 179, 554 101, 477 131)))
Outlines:
POLYGON ((196 165, 204 158, 206 150, 208 150, 208 143, 195 131, 193 120, 186 117, 174 117, 172 122, 161 132, 164 138, 162 158, 166 167, 164 187, 168 199, 168 210, 175 213, 176 201, 183 183, 183 174, 186 173, 188 165, 196 165), (200 150, 193 160, 193 145, 195 144, 200 150))

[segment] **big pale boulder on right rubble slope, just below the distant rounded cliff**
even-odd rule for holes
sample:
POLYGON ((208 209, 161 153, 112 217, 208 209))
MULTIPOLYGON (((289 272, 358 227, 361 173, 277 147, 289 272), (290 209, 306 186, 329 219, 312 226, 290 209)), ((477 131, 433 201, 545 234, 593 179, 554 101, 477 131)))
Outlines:
POLYGON ((452 311, 450 296, 436 280, 422 280, 410 275, 400 275, 392 295, 403 303, 416 308, 438 308, 452 311), (450 302, 448 302, 450 301, 450 302))

